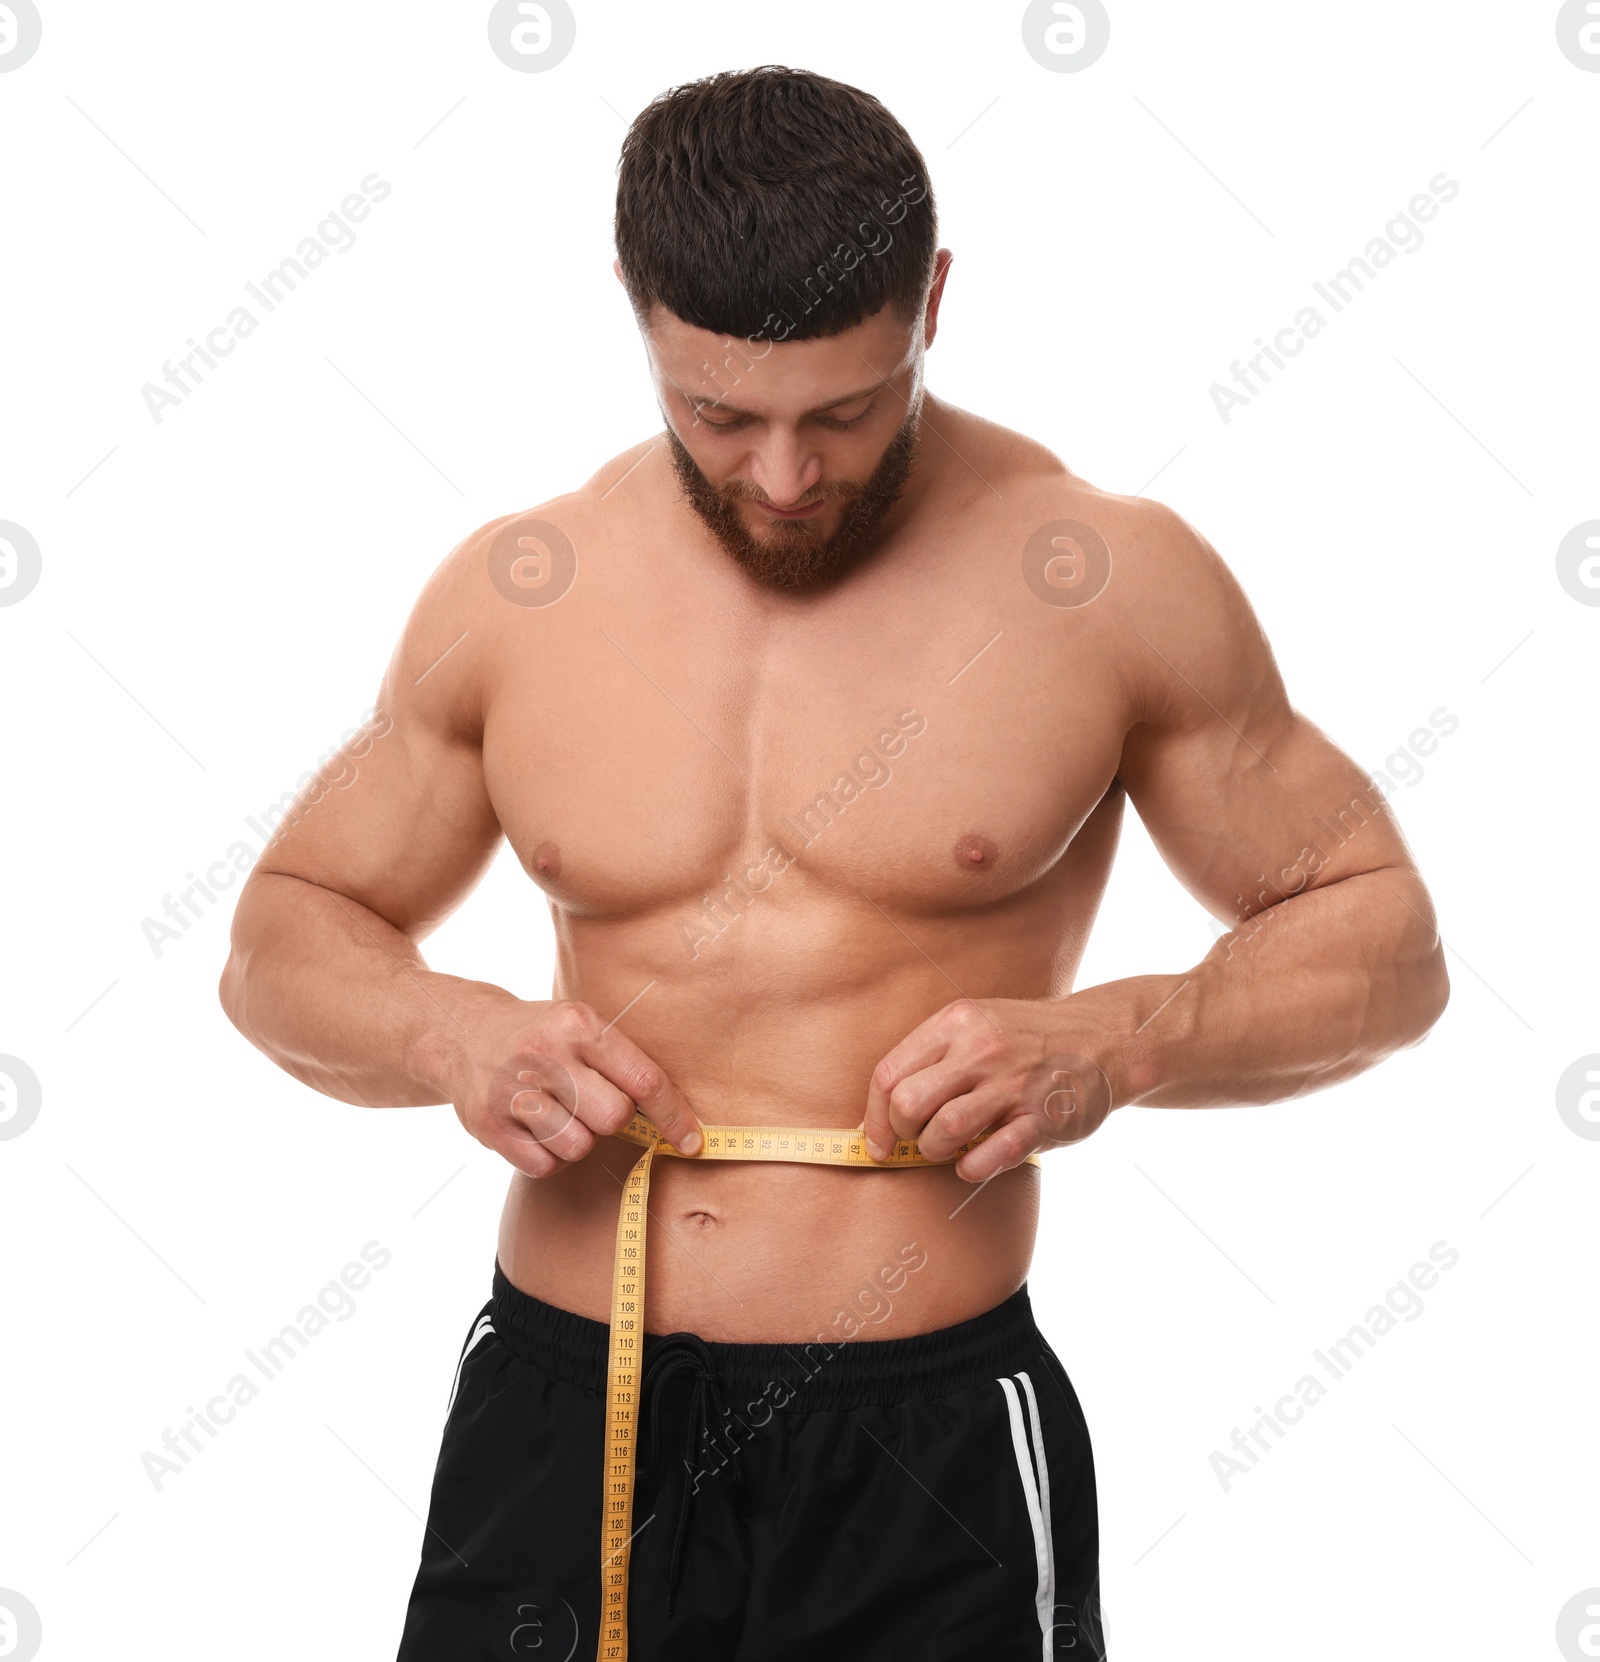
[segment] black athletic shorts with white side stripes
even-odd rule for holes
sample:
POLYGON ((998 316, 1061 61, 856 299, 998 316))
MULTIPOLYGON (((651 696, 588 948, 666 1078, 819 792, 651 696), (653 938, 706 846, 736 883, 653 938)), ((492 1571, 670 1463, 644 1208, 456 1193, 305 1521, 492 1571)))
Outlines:
MULTIPOLYGON (((591 1662, 606 1326, 512 1286, 467 1335, 399 1662, 591 1662)), ((1095 1468, 1027 1288, 901 1340, 645 1336, 636 1662, 1105 1657, 1095 1468)))

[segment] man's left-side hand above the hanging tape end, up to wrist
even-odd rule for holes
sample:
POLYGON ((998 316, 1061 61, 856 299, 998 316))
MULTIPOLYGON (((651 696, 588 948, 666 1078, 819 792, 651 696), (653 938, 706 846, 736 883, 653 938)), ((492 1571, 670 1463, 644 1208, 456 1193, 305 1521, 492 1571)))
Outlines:
POLYGON ((587 1004, 507 999, 472 1022, 442 1084, 462 1125, 528 1177, 582 1160, 635 1110, 685 1153, 699 1148, 673 1082, 587 1004))

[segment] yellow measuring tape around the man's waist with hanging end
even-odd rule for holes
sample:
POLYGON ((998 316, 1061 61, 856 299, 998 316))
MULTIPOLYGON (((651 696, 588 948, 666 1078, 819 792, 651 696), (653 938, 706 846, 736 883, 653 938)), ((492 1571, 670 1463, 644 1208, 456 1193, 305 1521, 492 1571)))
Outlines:
MULTIPOLYGON (((645 1360, 645 1225, 650 1207, 650 1165, 656 1155, 676 1160, 793 1160, 802 1165, 861 1165, 894 1170, 950 1165, 975 1148, 989 1132, 964 1142, 949 1160, 929 1160, 915 1142, 896 1142, 874 1160, 861 1130, 802 1130, 794 1125, 701 1125, 699 1153, 686 1155, 665 1142, 656 1125, 635 1114, 616 1133, 640 1143, 643 1153, 623 1183, 616 1217, 616 1266, 611 1275, 611 1351, 606 1378, 605 1496, 600 1512, 600 1650, 596 1662, 626 1662, 628 1554, 633 1547, 633 1466, 638 1453, 640 1379, 645 1360)), ((1028 1155, 1038 1165, 1038 1155, 1028 1155)))

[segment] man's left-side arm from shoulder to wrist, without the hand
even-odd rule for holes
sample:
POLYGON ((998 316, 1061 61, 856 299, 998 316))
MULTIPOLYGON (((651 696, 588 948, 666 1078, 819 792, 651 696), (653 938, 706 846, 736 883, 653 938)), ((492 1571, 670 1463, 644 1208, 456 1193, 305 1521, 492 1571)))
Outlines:
POLYGON ((479 658, 452 653, 470 608, 447 560, 419 598, 375 716, 296 799, 239 894, 221 999, 296 1079, 364 1105, 440 1102, 474 986, 419 942, 482 878, 500 839, 483 788, 479 658), (359 755, 366 750, 366 755, 359 755))

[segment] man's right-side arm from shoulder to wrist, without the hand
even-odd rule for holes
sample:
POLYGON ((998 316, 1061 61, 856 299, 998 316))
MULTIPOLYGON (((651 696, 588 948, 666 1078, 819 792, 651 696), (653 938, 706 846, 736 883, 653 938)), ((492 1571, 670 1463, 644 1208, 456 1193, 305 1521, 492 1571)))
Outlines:
POLYGON ((1143 512, 1156 557, 1126 627, 1145 718, 1118 774, 1173 874, 1233 927, 1181 976, 1075 1001, 1121 1035, 1118 1104, 1278 1102, 1427 1034, 1449 999, 1434 907, 1367 776, 1291 708, 1216 550, 1143 512))

